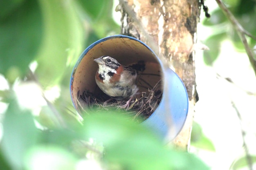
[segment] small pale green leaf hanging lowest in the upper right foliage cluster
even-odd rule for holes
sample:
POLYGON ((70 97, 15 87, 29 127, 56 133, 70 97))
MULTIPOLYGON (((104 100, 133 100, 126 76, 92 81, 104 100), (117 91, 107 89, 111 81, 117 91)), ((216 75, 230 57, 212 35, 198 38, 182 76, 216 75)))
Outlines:
POLYGON ((220 53, 220 44, 223 38, 226 37, 226 33, 220 33, 209 37, 205 44, 209 47, 209 50, 204 51, 204 63, 207 65, 213 64, 220 53))

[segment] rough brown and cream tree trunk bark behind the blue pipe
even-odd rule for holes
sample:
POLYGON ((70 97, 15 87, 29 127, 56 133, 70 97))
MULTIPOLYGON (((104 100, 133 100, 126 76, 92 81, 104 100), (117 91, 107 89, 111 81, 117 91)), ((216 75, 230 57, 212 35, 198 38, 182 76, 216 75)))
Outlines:
POLYGON ((189 114, 173 143, 186 148, 190 141, 197 101, 194 53, 199 0, 120 0, 121 33, 150 46, 184 82, 189 95, 189 114))

